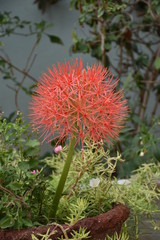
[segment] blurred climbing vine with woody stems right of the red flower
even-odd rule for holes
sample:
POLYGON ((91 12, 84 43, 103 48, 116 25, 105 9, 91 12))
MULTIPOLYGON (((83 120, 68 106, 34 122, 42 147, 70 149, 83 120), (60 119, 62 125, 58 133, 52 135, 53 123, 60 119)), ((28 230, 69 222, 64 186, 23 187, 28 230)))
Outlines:
POLYGON ((113 154, 118 149, 125 158, 125 164, 120 164, 117 172, 120 177, 127 177, 145 161, 160 161, 159 154, 155 154, 160 142, 152 127, 155 117, 159 118, 160 102, 159 1, 71 0, 70 3, 71 8, 79 11, 79 25, 89 29, 82 36, 78 36, 76 28, 73 30, 72 52, 89 53, 109 67, 120 78, 120 87, 128 99, 129 128, 122 132, 113 149, 113 154), (139 156, 142 135, 145 138, 150 135, 143 146, 147 149, 144 157, 139 156))

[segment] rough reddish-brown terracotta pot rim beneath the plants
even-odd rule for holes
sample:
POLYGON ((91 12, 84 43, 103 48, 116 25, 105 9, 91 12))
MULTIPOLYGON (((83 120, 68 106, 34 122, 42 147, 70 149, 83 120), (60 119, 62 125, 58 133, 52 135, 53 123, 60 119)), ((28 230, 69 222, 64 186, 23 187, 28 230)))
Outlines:
POLYGON ((63 235, 62 229, 64 229, 67 236, 70 237, 71 232, 73 230, 78 231, 80 227, 90 231, 90 239, 104 240, 106 235, 113 236, 115 232, 119 234, 122 224, 128 217, 129 209, 123 204, 118 204, 106 213, 102 213, 96 217, 84 218, 71 227, 66 224, 52 224, 38 228, 27 228, 21 230, 0 230, 0 240, 31 240, 32 233, 40 239, 37 233, 45 234, 48 228, 50 228, 50 231, 56 230, 56 234, 50 238, 58 240, 58 238, 63 235))

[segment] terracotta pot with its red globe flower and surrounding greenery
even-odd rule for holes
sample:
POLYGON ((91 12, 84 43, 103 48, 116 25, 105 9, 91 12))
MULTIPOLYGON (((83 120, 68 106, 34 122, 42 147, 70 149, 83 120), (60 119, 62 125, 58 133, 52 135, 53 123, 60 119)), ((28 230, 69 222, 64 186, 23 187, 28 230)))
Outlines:
POLYGON ((117 81, 101 64, 84 69, 76 60, 48 71, 33 96, 30 117, 43 140, 58 139, 54 155, 35 160, 40 143, 30 139, 22 118, 13 124, 1 121, 0 189, 5 194, 0 227, 30 228, 2 230, 0 236, 29 240, 119 235, 129 216, 129 209, 118 204, 125 201, 112 179, 121 157, 110 157, 104 144, 117 139, 123 127, 123 93, 115 91, 117 81), (69 146, 62 148, 58 144, 66 138, 69 146))

